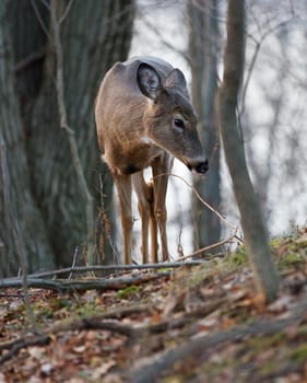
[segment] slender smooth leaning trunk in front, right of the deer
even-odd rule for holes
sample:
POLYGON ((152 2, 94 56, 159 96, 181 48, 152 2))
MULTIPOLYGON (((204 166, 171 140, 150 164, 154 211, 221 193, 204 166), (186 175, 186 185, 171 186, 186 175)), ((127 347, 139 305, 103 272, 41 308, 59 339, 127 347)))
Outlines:
POLYGON ((244 72, 244 34, 245 2, 244 0, 229 0, 224 76, 219 90, 219 123, 256 287, 264 300, 271 301, 276 297, 278 276, 270 255, 267 228, 248 174, 243 137, 236 116, 237 98, 244 72))

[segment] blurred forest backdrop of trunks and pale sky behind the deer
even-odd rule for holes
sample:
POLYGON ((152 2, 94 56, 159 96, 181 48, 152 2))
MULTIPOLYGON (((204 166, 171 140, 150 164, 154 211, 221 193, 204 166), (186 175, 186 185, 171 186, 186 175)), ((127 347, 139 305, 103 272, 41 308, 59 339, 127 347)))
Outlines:
MULTIPOLYGON (((94 241, 95 262, 114 263, 119 256, 113 183, 99 159, 93 105, 107 69, 131 55, 161 56, 187 74, 211 169, 201 181, 190 179, 179 164, 176 172, 238 225, 214 113, 226 3, 58 1, 68 126, 60 120, 48 4, 0 4, 0 276, 16 275, 21 252, 29 271, 70 266, 75 254, 83 263, 94 241), (85 179, 75 169, 75 149, 85 179)), ((237 113, 263 216, 276 234, 306 222, 307 4, 250 0, 246 11, 237 113)), ((229 235, 220 218, 175 177, 168 216, 174 255, 178 244, 189 253, 229 235)))

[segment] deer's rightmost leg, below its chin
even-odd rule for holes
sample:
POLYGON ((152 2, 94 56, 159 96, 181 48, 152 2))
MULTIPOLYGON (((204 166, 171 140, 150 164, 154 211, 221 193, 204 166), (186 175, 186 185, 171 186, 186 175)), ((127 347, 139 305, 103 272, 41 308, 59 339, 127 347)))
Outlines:
POLYGON ((166 234, 166 219, 167 211, 165 206, 168 174, 173 165, 173 159, 169 154, 164 153, 162 156, 156 158, 152 164, 153 169, 153 193, 154 193, 154 216, 157 222, 161 246, 162 246, 162 259, 168 260, 169 253, 167 246, 166 234))

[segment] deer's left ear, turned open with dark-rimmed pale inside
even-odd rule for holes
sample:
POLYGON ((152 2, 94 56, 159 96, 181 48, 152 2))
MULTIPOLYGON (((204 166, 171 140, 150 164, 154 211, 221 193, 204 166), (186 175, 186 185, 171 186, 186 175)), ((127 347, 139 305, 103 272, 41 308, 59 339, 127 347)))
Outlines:
POLYGON ((155 101, 161 90, 161 78, 156 70, 147 63, 138 69, 138 84, 144 96, 155 101))

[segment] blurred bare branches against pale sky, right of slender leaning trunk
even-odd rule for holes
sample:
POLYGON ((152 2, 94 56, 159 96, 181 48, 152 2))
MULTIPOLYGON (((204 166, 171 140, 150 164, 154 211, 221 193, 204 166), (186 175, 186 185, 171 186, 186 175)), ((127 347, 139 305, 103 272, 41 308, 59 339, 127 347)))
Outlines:
POLYGON ((240 102, 247 161, 271 233, 306 222, 306 2, 248 2, 240 102), (259 113, 261 112, 261 113, 259 113))

